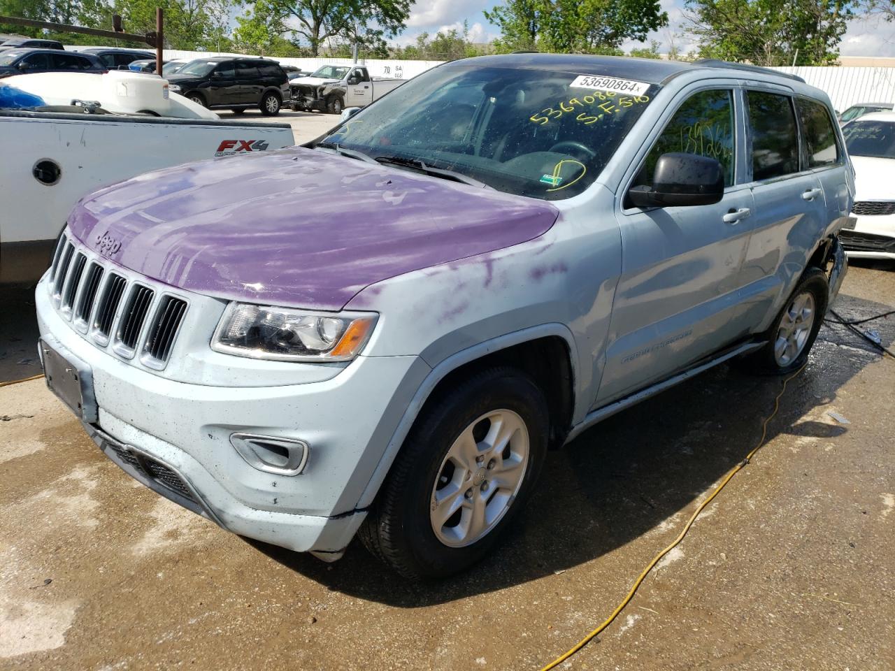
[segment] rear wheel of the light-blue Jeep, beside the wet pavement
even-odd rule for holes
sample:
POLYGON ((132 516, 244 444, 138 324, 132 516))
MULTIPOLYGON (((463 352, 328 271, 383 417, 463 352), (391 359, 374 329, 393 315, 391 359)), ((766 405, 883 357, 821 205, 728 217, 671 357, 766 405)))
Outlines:
POLYGON ((743 358, 742 368, 763 375, 787 375, 808 359, 827 312, 830 285, 820 268, 808 268, 774 319, 762 349, 743 358))

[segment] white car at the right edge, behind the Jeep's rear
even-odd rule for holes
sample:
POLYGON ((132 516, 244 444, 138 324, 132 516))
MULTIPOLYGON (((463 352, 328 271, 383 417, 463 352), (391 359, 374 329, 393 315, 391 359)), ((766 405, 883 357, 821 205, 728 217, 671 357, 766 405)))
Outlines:
POLYGON ((842 134, 855 166, 857 224, 840 240, 849 257, 895 260, 895 112, 864 115, 842 134))

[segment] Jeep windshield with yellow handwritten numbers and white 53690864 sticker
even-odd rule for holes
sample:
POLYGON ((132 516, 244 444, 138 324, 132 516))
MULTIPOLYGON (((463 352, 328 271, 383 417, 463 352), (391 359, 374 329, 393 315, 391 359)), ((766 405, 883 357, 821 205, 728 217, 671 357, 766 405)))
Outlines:
POLYGON ((380 161, 422 161, 499 191, 560 200, 596 179, 658 89, 573 72, 439 67, 324 141, 380 161))

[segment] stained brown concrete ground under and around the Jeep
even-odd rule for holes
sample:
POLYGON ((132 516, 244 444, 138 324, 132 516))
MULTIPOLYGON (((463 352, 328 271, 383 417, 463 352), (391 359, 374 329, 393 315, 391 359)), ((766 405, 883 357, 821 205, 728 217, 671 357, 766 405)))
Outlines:
MULTIPOLYGON (((893 303, 865 265, 837 308, 893 303)), ((0 310, 0 334, 23 320, 0 310)), ((895 668, 893 375, 823 327, 767 445, 561 668, 895 668)), ((0 388, 0 668, 538 669, 755 445, 780 384, 725 366, 607 420, 550 454, 498 552, 431 585, 356 544, 326 565, 222 531, 107 461, 42 380, 0 388)))

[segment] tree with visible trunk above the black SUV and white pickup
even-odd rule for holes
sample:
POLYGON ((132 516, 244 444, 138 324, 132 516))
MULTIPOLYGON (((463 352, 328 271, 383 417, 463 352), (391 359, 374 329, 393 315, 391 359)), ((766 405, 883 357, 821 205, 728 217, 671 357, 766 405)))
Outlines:
POLYGON ((240 19, 243 32, 268 33, 307 43, 311 55, 320 55, 328 40, 348 41, 356 35, 379 31, 394 37, 404 30, 413 0, 251 0, 250 11, 240 19), (363 32, 360 27, 367 27, 363 32), (243 28, 244 27, 244 28, 243 28))

